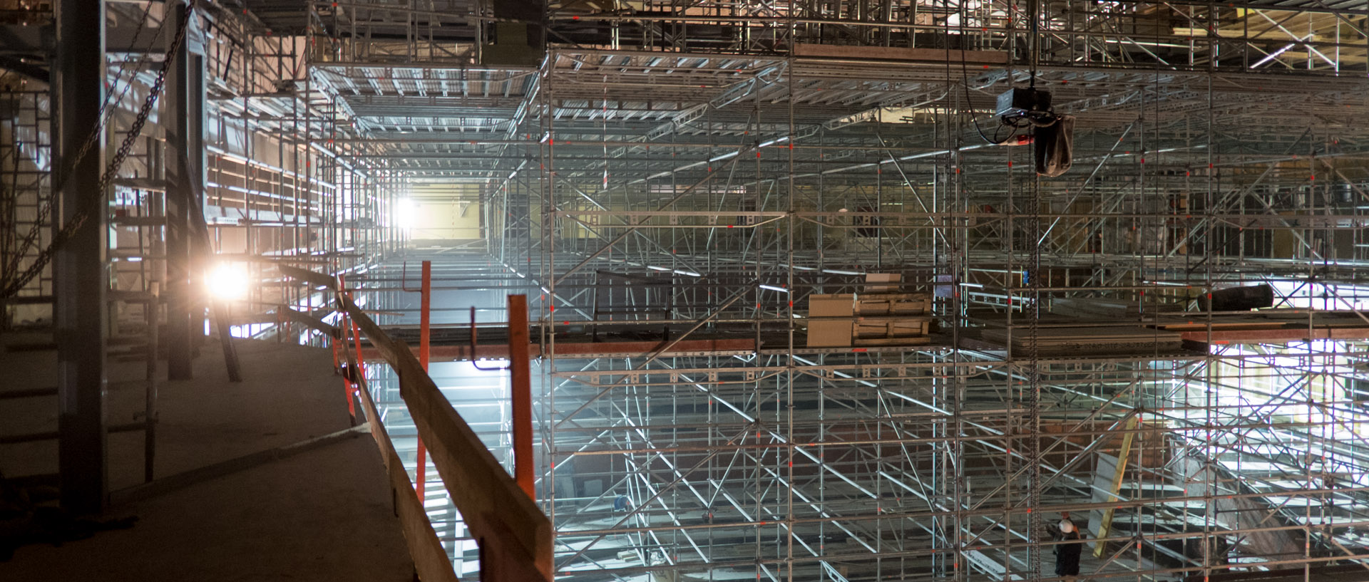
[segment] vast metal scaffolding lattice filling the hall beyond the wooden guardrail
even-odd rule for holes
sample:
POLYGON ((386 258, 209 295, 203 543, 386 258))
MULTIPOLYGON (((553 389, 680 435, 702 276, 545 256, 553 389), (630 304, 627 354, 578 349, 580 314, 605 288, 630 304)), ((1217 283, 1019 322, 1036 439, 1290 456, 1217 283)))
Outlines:
MULTIPOLYGON (((160 57, 144 7, 110 8, 146 46, 111 49, 134 87, 111 138, 160 57)), ((345 273, 404 333, 407 262, 431 260, 456 344, 465 307, 497 333, 527 292, 559 579, 1054 582, 1064 512, 1101 538, 1092 579, 1365 575, 1364 0, 200 7, 204 213, 264 283, 238 332, 323 342, 279 324, 327 303, 278 261, 345 273), (986 139, 1027 85, 1076 116, 1062 176, 986 139), (465 189, 479 240, 396 227, 433 184, 465 189), (869 273, 935 296, 927 342, 808 347, 809 296, 869 273), (1251 284, 1272 310, 1203 307, 1251 284), (1151 337, 1091 350, 1117 327, 1151 337), (731 347, 667 350, 686 340, 731 347)), ((41 64, 34 46, 4 55, 41 64)), ((8 70, 0 254, 22 265, 49 227, 27 209, 51 198, 51 105, 8 70)), ((159 281, 164 139, 111 197, 111 239, 140 249, 114 253, 114 288, 159 281)), ((434 376, 505 454, 507 385, 434 376)), ((386 422, 413 463, 412 424, 386 422)), ((474 572, 444 495, 430 516, 474 572)))

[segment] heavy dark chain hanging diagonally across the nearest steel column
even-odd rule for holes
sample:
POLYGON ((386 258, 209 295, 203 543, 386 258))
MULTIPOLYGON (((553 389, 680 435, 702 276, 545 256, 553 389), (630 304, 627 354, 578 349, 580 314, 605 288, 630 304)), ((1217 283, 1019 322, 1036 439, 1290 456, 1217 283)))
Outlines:
MULTIPOLYGON (((62 230, 52 235, 52 243, 49 243, 47 249, 38 253, 33 264, 29 265, 29 268, 25 269, 22 273, 19 273, 16 277, 5 283, 4 290, 0 291, 0 298, 15 296, 19 292, 19 290, 27 286, 29 281, 37 277, 38 273, 41 273, 42 269, 48 266, 48 262, 52 262, 52 257, 56 254, 57 249, 60 249, 62 245, 70 240, 71 236, 78 230, 81 230, 81 227, 85 225, 86 220, 90 219, 90 214, 93 214, 94 212, 107 212, 103 208, 105 205, 105 193, 110 190, 110 184, 114 183, 115 176, 119 174, 119 168, 123 167, 123 160, 129 157, 129 150, 133 149, 134 141, 137 141, 138 137, 142 135, 142 126, 146 124, 148 116, 152 115, 152 107, 156 105, 157 97, 162 94, 162 87, 166 83, 167 72, 171 70, 171 64, 175 63, 177 52, 179 52, 181 44, 185 42, 186 30, 190 27, 190 19, 194 15, 194 1, 196 0, 189 0, 189 3, 186 4, 185 15, 181 18, 181 25, 179 29, 177 30, 175 38, 171 40, 171 46, 167 48, 167 52, 162 60, 162 68, 157 70, 157 78, 156 81, 153 81, 152 89, 148 92, 148 97, 142 101, 142 108, 138 109, 137 119, 134 119, 133 124, 129 127, 129 133, 127 135, 123 137, 123 142, 119 143, 119 149, 114 153, 114 157, 110 160, 110 163, 105 164, 104 174, 100 175, 100 183, 93 190, 86 193, 86 195, 79 201, 79 206, 77 208, 77 212, 71 216, 71 220, 63 224, 62 230)), ((77 154, 78 161, 90 150, 90 148, 93 148, 96 137, 99 135, 100 131, 99 128, 96 128, 96 131, 92 133, 92 139, 88 139, 85 143, 88 148, 82 148, 78 152, 77 154)), ((74 167, 75 164, 73 163, 71 168, 74 167)), ((48 213, 51 214, 51 212, 52 206, 49 204, 48 213)), ((40 224, 41 224, 41 217, 40 217, 40 224)))

